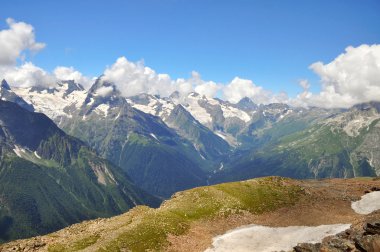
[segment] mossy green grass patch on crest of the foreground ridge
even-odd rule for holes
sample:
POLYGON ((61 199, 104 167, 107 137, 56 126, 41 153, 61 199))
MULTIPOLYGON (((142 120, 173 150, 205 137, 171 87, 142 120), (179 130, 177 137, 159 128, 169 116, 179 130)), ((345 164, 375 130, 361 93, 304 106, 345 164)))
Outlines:
POLYGON ((248 211, 261 214, 295 204, 303 191, 289 180, 269 177, 200 187, 177 193, 159 209, 150 209, 100 251, 159 251, 168 245, 169 234, 187 232, 194 221, 223 218, 248 211))

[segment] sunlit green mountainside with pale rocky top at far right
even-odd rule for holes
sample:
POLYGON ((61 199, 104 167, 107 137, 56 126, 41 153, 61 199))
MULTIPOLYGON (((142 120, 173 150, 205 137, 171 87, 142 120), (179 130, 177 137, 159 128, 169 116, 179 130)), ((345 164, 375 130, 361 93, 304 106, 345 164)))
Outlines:
MULTIPOLYGON (((295 122, 293 120, 293 124, 295 122)), ((272 137, 277 133, 269 131, 272 137)), ((213 177, 213 182, 268 175, 293 178, 376 176, 380 172, 379 137, 379 103, 360 104, 320 118, 304 129, 278 135, 261 148, 226 165, 224 171, 213 177)))

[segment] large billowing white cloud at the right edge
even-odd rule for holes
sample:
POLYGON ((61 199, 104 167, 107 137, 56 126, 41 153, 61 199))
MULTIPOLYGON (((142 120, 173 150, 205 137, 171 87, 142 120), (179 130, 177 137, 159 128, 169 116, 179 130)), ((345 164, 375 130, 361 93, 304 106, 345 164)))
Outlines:
POLYGON ((350 46, 330 63, 316 62, 309 68, 319 75, 321 92, 312 94, 305 86, 296 103, 347 108, 380 100, 380 45, 350 46))

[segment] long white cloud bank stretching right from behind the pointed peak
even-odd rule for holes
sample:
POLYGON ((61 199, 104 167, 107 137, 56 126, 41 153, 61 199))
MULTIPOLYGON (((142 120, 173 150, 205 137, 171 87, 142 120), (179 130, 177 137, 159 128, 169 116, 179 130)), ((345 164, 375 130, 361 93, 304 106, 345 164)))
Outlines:
POLYGON ((234 78, 228 85, 214 81, 202 80, 198 72, 193 71, 188 79, 173 80, 167 74, 158 74, 153 69, 144 66, 143 62, 130 62, 120 57, 104 71, 103 80, 114 83, 124 96, 140 93, 169 96, 174 91, 181 95, 197 92, 208 97, 215 97, 222 91, 223 98, 238 102, 249 97, 257 103, 283 102, 287 95, 273 95, 270 91, 256 86, 251 80, 234 78))

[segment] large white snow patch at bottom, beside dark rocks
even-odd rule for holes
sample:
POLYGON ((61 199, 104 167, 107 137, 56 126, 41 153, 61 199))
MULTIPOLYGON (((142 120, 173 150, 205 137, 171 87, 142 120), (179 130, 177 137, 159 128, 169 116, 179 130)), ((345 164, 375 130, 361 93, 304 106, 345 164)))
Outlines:
POLYGON ((205 252, 271 252, 289 251, 298 243, 318 243, 323 238, 350 228, 350 224, 321 225, 315 227, 266 227, 249 225, 234 229, 213 239, 212 247, 205 252))

